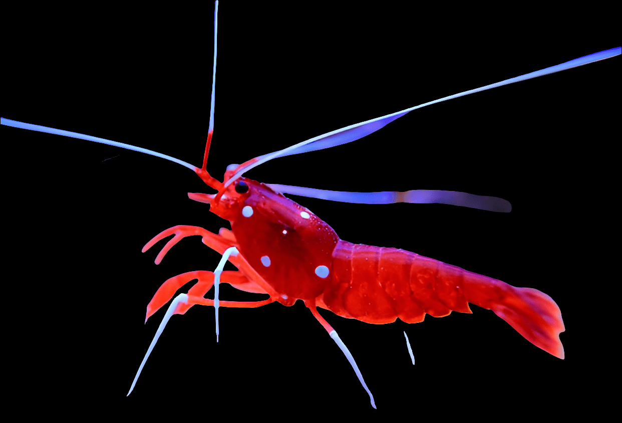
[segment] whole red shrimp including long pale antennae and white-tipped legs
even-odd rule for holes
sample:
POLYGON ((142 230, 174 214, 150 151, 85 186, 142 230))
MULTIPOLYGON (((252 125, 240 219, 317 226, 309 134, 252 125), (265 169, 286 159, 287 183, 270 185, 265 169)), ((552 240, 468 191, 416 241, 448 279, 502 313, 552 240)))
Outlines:
MULTIPOLYGON (((217 11, 218 2, 215 11, 215 32, 217 11)), ((537 289, 514 287, 506 282, 402 249, 349 243, 340 239, 325 221, 284 194, 351 203, 443 203, 477 208, 486 212, 510 212, 511 205, 501 198, 441 190, 359 193, 262 184, 244 177, 244 172, 278 157, 356 141, 417 108, 610 58, 619 55, 620 50, 618 47, 593 53, 520 77, 346 126, 281 151, 255 157, 241 165, 230 165, 223 181, 212 177, 207 171, 208 152, 214 128, 216 44, 210 122, 201 168, 154 151, 75 132, 4 118, 2 124, 101 142, 172 160, 193 170, 205 184, 216 190, 216 193, 188 193, 188 197, 209 205, 211 212, 230 222, 231 230, 222 228, 215 234, 198 226, 173 226, 159 233, 143 248, 143 251, 147 251, 159 241, 173 236, 158 254, 156 264, 159 264, 172 246, 181 239, 198 235, 202 237, 205 245, 223 254, 223 259, 213 272, 186 272, 168 279, 157 290, 147 305, 146 319, 169 302, 170 305, 156 337, 142 360, 130 393, 172 314, 185 314, 193 305, 215 307, 218 336, 218 307, 252 308, 272 302, 293 305, 297 300, 302 300, 348 358, 360 383, 368 392, 371 404, 375 407, 371 391, 364 382, 353 354, 348 351, 337 332, 318 313, 317 307, 330 310, 341 317, 381 324, 394 322, 398 318, 407 323, 418 323, 424 320, 426 314, 443 317, 452 311, 471 313, 469 307, 471 303, 493 310, 526 340, 563 359, 564 346, 560 342, 559 334, 564 332, 564 322, 560 309, 549 295, 537 289), (227 260, 238 270, 223 271, 227 260), (193 280, 198 282, 186 294, 179 294, 173 298, 180 287, 193 280), (218 286, 221 283, 230 284, 242 291, 268 294, 270 297, 258 302, 220 300, 218 286), (215 298, 206 299, 205 295, 212 286, 215 287, 215 298)), ((354 352, 356 355, 356 351, 354 352)))

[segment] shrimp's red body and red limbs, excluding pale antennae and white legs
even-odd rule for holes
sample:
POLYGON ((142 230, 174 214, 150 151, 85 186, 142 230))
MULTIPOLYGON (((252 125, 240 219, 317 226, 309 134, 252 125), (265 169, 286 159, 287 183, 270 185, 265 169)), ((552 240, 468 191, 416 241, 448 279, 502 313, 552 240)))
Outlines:
MULTIPOLYGON (((228 170, 225 182, 233 174, 228 170)), ((176 238, 162 250, 157 263, 185 236, 201 235, 203 243, 219 253, 236 246, 241 257, 231 262, 240 272, 224 274, 223 281, 243 291, 270 294, 271 300, 228 307, 253 307, 275 300, 293 305, 302 299, 316 316, 317 305, 367 323, 392 323, 398 317, 406 323, 419 323, 425 314, 445 317, 452 310, 471 313, 470 302, 494 310, 531 343, 564 358, 559 340, 564 323, 549 295, 515 288, 401 249, 348 243, 307 208, 254 180, 239 178, 223 187, 209 175, 203 179, 220 188, 218 194, 195 193, 190 198, 209 203, 211 212, 230 221, 233 232, 221 230, 217 236, 195 226, 175 226, 147 243, 144 251, 174 234, 176 238)), ((200 282, 188 295, 203 297, 213 283, 211 274, 174 277, 160 287, 147 306, 147 318, 195 277, 200 282)), ((188 304, 210 302, 191 298, 188 304)), ((188 308, 180 305, 177 312, 185 313, 188 308)), ((317 318, 332 333, 333 328, 317 318)))

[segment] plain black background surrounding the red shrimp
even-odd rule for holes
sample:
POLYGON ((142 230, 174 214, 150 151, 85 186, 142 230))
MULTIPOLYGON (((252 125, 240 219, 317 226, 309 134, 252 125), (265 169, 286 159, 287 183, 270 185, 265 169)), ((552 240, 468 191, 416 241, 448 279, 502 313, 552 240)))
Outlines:
MULTIPOLYGON (((588 12, 493 11, 487 19, 481 12, 221 2, 208 170, 221 179, 230 163, 617 45, 606 22, 596 24, 602 17, 578 25, 588 12)), ((212 14, 209 2, 4 14, 2 116, 200 165, 212 14)), ((456 190, 513 205, 511 213, 491 213, 292 197, 342 239, 534 287, 562 310, 564 361, 476 306, 473 315, 427 316, 419 325, 369 325, 322 310, 355 356, 377 413, 486 418, 532 416, 537 407, 556 416, 576 407, 587 386, 599 386, 611 350, 600 333, 608 320, 590 315, 606 310, 601 286, 613 283, 598 249, 611 232, 606 157, 619 73, 620 58, 611 58, 447 101, 352 144, 246 174, 334 190, 456 190)), ((164 243, 144 254, 142 246, 170 226, 217 232, 228 222, 187 198, 212 191, 172 162, 6 126, 2 141, 10 170, 5 266, 13 274, 5 295, 11 350, 26 362, 18 395, 51 399, 58 410, 320 418, 332 409, 373 417, 355 374, 302 302, 221 309, 218 344, 213 309, 173 317, 126 398, 164 315, 143 324, 157 287, 218 263, 198 237, 184 239, 159 266, 153 261, 164 243)), ((264 297, 221 287, 221 299, 264 297)))

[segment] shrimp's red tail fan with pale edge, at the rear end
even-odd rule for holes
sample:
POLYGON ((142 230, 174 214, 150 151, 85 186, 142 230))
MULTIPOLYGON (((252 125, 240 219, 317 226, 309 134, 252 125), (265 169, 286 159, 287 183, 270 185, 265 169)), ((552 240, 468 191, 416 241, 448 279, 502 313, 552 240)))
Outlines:
POLYGON ((471 304, 493 310, 529 342, 564 359, 564 346, 559 339, 565 330, 564 321, 549 295, 470 272, 464 277, 463 292, 471 304))

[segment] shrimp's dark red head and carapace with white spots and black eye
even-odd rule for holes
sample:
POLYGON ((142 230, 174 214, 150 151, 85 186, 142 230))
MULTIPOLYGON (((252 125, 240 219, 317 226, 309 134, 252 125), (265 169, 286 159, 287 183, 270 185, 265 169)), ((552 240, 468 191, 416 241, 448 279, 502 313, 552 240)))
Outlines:
MULTIPOLYGON (((225 182, 234 167, 227 170, 225 182)), ((209 201, 211 212, 230 221, 239 252, 283 299, 313 299, 323 292, 339 238, 309 209, 244 177, 210 198, 189 196, 209 201)))

